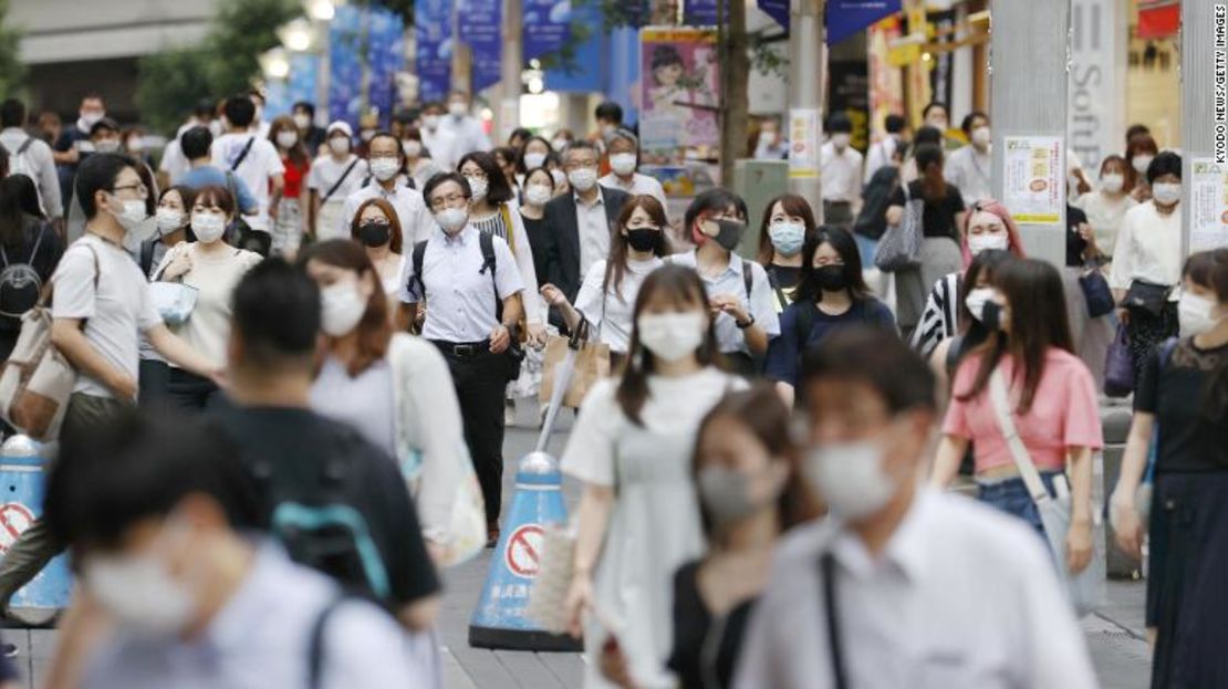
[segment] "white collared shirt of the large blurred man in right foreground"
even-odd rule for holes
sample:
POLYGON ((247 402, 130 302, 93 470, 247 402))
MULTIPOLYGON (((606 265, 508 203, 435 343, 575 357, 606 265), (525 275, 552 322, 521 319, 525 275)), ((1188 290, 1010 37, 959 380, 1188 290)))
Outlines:
POLYGON ((1036 533, 970 499, 919 489, 877 560, 831 520, 785 538, 747 630, 737 689, 834 687, 819 566, 828 551, 850 687, 1098 685, 1036 533))

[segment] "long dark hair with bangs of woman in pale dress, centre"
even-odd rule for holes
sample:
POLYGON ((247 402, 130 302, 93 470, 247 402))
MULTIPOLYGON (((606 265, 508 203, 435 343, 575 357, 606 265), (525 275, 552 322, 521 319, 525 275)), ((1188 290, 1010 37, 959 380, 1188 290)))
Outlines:
MULTIPOLYGON (((623 380, 618 384, 615 398, 619 407, 631 422, 642 426, 640 410, 648 399, 648 376, 655 370, 652 352, 640 344, 640 314, 647 308, 650 301, 661 292, 666 298, 679 307, 696 307, 707 313, 707 291, 699 273, 684 265, 666 264, 653 270, 640 286, 640 295, 635 298, 635 311, 631 317, 631 340, 626 348, 626 370, 623 380)), ((716 349, 716 333, 712 329, 712 318, 709 318, 707 333, 704 343, 695 352, 701 366, 716 364, 720 356, 716 349)))

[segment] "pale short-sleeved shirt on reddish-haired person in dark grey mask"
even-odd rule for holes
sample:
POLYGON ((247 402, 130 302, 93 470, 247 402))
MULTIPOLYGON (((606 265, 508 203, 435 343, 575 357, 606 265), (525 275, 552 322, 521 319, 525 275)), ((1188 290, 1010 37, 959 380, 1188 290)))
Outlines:
MULTIPOLYGON (((695 262, 695 252, 675 253, 666 258, 666 262, 675 265, 685 265, 699 271, 695 262)), ((707 297, 731 295, 738 297, 742 308, 755 318, 755 325, 768 333, 768 339, 780 334, 780 317, 776 314, 776 302, 772 296, 771 284, 768 281, 768 271, 758 263, 744 260, 738 254, 729 254, 729 265, 716 278, 709 278, 700 273, 707 297), (747 295, 747 281, 743 278, 743 267, 750 269, 750 294, 747 295)), ((742 352, 750 354, 747 346, 747 334, 738 328, 738 322, 728 313, 716 316, 716 346, 722 354, 742 352)))

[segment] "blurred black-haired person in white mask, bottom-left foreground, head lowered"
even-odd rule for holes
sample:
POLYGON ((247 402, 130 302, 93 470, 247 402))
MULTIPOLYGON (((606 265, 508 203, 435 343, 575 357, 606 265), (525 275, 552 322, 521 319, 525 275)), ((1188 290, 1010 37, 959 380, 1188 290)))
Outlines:
POLYGON ((411 687, 376 605, 253 537, 260 500, 216 427, 125 413, 66 437, 47 520, 80 565, 49 685, 411 687), (117 513, 112 500, 125 508, 117 513), (93 603, 81 604, 87 596, 93 603), (91 626, 107 625, 104 636, 91 626), (174 661, 172 662, 172 658, 174 661), (316 660, 321 662, 317 664, 316 660))

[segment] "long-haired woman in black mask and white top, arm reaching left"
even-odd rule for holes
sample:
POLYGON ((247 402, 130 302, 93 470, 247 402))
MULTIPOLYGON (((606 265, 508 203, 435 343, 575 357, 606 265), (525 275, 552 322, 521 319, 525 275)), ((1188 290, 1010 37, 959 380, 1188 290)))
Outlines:
POLYGON ((582 318, 588 321, 597 341, 610 348, 612 370, 616 371, 626 359, 631 307, 640 286, 650 273, 661 268, 662 257, 669 253, 667 225, 666 210, 656 198, 631 197, 619 214, 609 259, 598 260, 588 269, 576 303, 570 303, 554 285, 542 287, 542 297, 559 308, 570 330, 575 332, 582 318))

